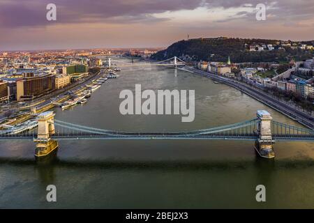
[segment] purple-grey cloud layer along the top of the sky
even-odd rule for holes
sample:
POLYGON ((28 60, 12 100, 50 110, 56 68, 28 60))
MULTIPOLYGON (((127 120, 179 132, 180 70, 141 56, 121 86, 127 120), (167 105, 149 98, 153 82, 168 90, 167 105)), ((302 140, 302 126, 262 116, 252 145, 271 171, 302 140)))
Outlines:
MULTIPOLYGON (((314 4, 308 0, 264 1, 266 5, 277 3, 277 8, 269 9, 269 13, 277 15, 277 20, 304 20, 313 17, 314 4)), ((58 23, 81 22, 160 22, 165 19, 154 17, 153 13, 165 11, 193 10, 197 7, 207 8, 239 8, 254 7, 260 0, 0 0, 0 26, 46 26, 54 24, 45 19, 48 3, 57 5, 58 23)), ((249 17, 250 13, 243 14, 249 17)), ((234 17, 226 18, 220 22, 234 17)))

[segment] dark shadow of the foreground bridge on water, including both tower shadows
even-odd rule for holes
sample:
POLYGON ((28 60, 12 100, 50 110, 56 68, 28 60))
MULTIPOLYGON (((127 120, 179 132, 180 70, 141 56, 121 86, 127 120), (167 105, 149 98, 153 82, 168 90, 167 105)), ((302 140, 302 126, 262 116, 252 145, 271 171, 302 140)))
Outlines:
MULTIPOLYGON (((205 176, 215 174, 256 174, 259 182, 271 183, 272 176, 279 170, 307 169, 314 167, 314 160, 266 160, 255 157, 255 160, 166 160, 166 161, 128 161, 128 160, 63 160, 57 157, 57 153, 52 154, 44 160, 35 158, 0 157, 2 167, 30 167, 36 172, 38 182, 42 189, 49 184, 54 184, 58 178, 60 170, 66 171, 130 171, 145 172, 159 171, 169 173, 195 174, 203 172, 205 176), (267 173, 267 174, 265 174, 267 173)), ((154 176, 154 175, 153 175, 154 176)), ((199 176, 199 175, 196 175, 199 176)))

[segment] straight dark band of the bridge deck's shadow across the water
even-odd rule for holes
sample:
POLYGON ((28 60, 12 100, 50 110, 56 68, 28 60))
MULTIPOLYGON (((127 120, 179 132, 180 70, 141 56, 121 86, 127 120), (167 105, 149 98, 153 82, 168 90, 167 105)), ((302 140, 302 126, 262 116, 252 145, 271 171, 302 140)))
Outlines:
POLYGON ((304 169, 314 167, 314 160, 304 158, 300 160, 276 160, 255 157, 255 160, 63 160, 57 157, 57 152, 44 159, 0 157, 0 165, 30 166, 35 168, 77 168, 77 169, 167 169, 170 171, 197 170, 235 170, 235 169, 304 169))

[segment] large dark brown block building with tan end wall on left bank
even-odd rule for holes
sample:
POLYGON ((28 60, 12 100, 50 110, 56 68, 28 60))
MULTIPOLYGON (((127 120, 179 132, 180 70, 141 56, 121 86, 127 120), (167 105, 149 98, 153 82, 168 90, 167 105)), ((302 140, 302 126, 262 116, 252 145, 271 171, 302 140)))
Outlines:
POLYGON ((36 77, 24 77, 17 80, 17 100, 32 100, 55 88, 55 77, 53 75, 42 75, 36 77))

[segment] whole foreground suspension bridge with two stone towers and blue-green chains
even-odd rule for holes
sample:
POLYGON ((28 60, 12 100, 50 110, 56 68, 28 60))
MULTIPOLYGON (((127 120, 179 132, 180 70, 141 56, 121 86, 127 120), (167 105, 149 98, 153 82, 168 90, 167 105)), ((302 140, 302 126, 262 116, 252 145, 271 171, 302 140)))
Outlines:
POLYGON ((36 143, 36 156, 45 156, 57 148, 59 140, 110 140, 110 139, 203 139, 255 141, 255 150, 262 157, 274 157, 275 141, 314 142, 314 130, 299 128, 272 120, 267 111, 257 111, 256 118, 241 123, 202 130, 179 132, 126 132, 92 128, 54 119, 53 112, 38 115, 37 131, 20 133, 1 132, 0 140, 32 139, 36 143))

